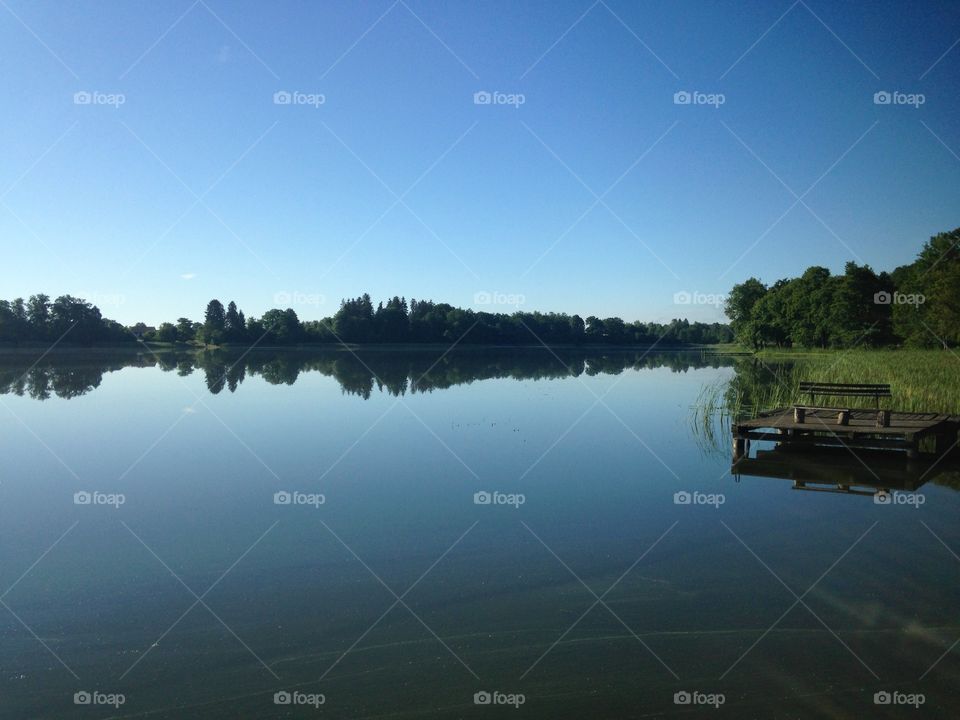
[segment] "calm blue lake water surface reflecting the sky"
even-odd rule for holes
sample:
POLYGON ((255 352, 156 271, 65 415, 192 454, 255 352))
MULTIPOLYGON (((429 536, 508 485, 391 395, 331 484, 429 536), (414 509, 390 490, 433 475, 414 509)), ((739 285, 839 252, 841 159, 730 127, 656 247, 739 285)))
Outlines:
POLYGON ((0 715, 960 713, 954 476, 738 480, 734 358, 438 358, 0 363, 0 715))

